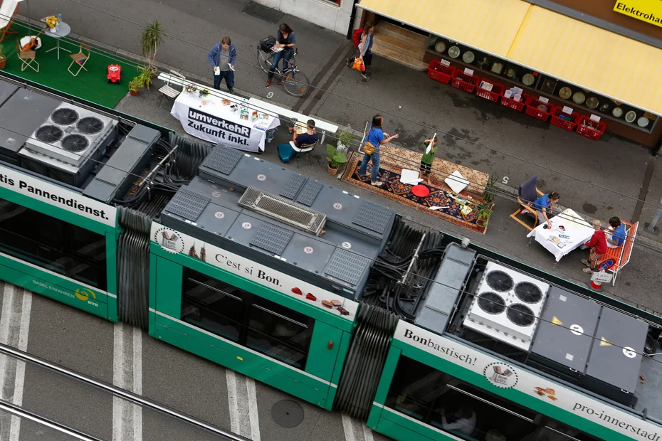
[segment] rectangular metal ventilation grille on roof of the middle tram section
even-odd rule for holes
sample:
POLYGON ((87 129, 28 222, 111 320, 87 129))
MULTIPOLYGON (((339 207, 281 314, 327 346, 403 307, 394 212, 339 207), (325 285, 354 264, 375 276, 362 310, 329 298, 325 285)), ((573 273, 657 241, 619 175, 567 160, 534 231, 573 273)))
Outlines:
POLYGON ((314 235, 320 235, 327 220, 327 215, 283 196, 267 193, 260 188, 246 188, 239 199, 239 206, 256 211, 268 218, 299 228, 314 235))

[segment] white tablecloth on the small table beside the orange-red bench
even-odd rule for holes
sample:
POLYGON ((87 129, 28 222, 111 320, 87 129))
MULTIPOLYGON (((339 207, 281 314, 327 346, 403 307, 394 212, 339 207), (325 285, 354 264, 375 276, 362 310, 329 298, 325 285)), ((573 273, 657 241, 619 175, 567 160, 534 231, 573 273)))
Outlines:
POLYGON ((542 228, 542 225, 545 225, 545 222, 542 222, 527 235, 527 238, 535 238, 537 243, 540 243, 554 255, 557 262, 561 260, 561 257, 589 240, 595 231, 587 221, 584 221, 581 216, 570 208, 551 218, 550 222, 552 223, 552 229, 542 228), (565 230, 562 230, 561 226, 565 230), (558 240, 558 243, 556 240, 558 240))

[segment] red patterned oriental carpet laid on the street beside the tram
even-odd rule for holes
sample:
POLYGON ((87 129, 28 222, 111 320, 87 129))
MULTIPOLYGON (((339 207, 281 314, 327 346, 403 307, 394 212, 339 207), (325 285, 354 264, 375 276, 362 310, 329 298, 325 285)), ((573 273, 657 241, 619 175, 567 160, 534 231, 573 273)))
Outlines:
MULTIPOLYGON (((384 149, 384 147, 382 147, 382 149, 384 149)), ((446 184, 443 184, 443 187, 446 188, 441 188, 441 185, 439 185, 438 182, 431 181, 432 185, 426 185, 430 189, 430 194, 425 198, 419 198, 418 196, 415 196, 413 193, 411 193, 411 185, 402 184, 400 182, 400 171, 402 167, 399 165, 396 166, 394 164, 389 164, 387 161, 384 161, 383 151, 382 163, 379 167, 379 181, 384 182, 384 184, 381 187, 376 187, 370 184, 372 164, 368 164, 365 176, 359 176, 358 170, 361 159, 363 159, 362 154, 352 152, 350 160, 347 162, 346 171, 342 176, 342 181, 359 186, 361 188, 365 188, 369 191, 373 191, 374 193, 392 199, 393 201, 404 203, 406 206, 419 211, 424 211, 431 216, 436 216, 437 218, 441 218, 444 221, 448 221, 463 228, 467 228, 468 230, 483 234, 485 233, 485 230, 487 230, 487 225, 481 226, 477 223, 477 204, 483 202, 480 197, 472 195, 471 193, 467 193, 466 191, 462 191, 460 194, 461 198, 465 199, 468 202, 467 205, 472 208, 471 212, 462 213, 461 210, 463 205, 451 197, 451 195, 456 195, 451 192, 450 188, 448 188, 446 184), (436 211, 429 209, 429 207, 434 206, 448 208, 442 208, 436 211)), ((409 166, 409 168, 414 169, 414 167, 411 166, 409 166)))

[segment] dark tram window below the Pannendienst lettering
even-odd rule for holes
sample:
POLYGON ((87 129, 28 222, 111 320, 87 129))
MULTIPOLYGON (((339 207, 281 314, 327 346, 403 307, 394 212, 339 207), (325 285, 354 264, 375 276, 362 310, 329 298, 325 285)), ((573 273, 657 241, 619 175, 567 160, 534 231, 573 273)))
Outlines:
POLYGON ((105 236, 0 199, 0 252, 105 291, 105 236))

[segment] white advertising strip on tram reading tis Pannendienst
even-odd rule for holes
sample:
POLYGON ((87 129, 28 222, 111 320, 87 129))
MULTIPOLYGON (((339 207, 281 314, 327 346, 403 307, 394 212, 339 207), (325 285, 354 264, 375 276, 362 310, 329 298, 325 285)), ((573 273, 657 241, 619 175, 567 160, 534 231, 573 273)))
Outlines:
POLYGON ((0 186, 16 193, 64 208, 71 213, 115 227, 117 208, 95 201, 80 193, 41 181, 14 169, 0 166, 0 186))

